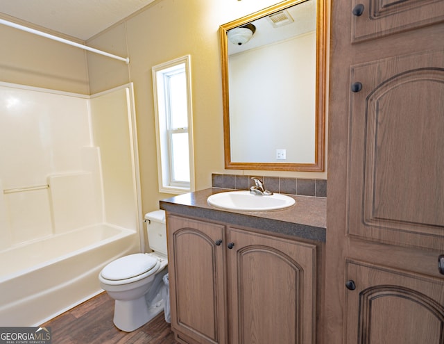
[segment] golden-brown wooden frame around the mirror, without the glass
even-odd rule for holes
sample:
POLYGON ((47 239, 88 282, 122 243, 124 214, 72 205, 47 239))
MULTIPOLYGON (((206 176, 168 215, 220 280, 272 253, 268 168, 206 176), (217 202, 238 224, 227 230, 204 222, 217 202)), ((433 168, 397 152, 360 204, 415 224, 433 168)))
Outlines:
POLYGON ((219 27, 221 42, 222 96, 223 96, 223 150, 225 168, 231 170, 278 170, 323 172, 325 160, 325 95, 327 88, 327 11, 326 0, 316 0, 316 132, 314 163, 241 163, 231 161, 230 149, 230 97, 228 90, 228 30, 243 26, 256 19, 284 10, 305 0, 283 1, 241 17, 219 27))

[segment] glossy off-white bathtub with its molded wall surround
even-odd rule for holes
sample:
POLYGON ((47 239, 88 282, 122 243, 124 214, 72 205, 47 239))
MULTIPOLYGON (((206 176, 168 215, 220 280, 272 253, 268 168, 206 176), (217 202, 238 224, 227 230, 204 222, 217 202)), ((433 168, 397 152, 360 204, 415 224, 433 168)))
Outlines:
POLYGON ((100 293, 101 268, 140 251, 133 109, 132 85, 89 97, 0 83, 2 326, 100 293))

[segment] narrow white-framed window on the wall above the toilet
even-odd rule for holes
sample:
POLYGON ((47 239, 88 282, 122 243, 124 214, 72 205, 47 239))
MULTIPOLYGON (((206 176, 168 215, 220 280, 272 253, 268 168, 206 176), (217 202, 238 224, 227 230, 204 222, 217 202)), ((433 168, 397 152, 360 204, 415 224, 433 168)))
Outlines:
POLYGON ((190 56, 153 67, 157 171, 161 193, 194 190, 190 56))

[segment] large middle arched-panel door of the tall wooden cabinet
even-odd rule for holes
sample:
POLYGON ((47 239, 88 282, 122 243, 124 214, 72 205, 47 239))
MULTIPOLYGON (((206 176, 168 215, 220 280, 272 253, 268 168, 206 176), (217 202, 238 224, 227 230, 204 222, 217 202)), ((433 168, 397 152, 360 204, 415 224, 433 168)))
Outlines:
POLYGON ((444 247, 443 56, 352 67, 362 89, 350 97, 351 235, 444 247))

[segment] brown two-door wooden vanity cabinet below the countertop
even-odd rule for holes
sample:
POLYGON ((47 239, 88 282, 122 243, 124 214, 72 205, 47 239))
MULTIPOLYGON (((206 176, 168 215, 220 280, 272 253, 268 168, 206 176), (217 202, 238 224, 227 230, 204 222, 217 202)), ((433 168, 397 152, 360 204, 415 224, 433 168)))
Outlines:
POLYGON ((315 343, 316 245, 167 215, 180 343, 315 343))

